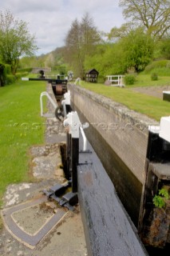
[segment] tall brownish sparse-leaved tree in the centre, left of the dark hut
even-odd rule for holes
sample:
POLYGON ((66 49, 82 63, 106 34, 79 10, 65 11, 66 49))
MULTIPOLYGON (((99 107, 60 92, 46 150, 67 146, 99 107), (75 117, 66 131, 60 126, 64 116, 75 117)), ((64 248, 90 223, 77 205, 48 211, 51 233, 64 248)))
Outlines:
POLYGON ((85 56, 93 54, 101 37, 93 25, 93 19, 85 14, 81 22, 75 19, 65 38, 65 60, 69 62, 74 73, 83 78, 85 56))

